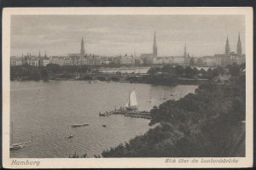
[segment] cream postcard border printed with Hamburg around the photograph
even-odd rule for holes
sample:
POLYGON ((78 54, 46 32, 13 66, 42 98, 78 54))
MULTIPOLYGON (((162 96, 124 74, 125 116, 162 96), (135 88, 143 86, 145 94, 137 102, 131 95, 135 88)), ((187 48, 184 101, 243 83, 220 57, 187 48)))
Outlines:
MULTIPOLYGON (((3 8, 3 167, 252 167, 253 166, 253 8, 3 8), (242 14, 246 18, 246 157, 238 163, 166 163, 166 158, 43 158, 37 166, 14 166, 9 158, 10 17, 13 14, 242 14)), ((193 158, 188 158, 192 160, 193 158)), ((201 158, 197 158, 201 160, 201 158)), ((208 159, 208 158, 207 158, 208 159)), ((215 159, 215 158, 214 158, 215 159)), ((218 158, 216 158, 218 159, 218 158)), ((228 159, 228 158, 227 158, 228 159)))

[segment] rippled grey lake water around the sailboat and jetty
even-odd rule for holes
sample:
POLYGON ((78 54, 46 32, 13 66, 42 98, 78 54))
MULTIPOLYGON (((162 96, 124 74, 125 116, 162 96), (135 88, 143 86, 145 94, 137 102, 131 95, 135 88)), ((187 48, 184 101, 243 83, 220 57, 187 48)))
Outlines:
POLYGON ((197 86, 150 86, 126 82, 11 82, 10 119, 14 143, 33 137, 33 142, 10 157, 68 157, 75 151, 92 157, 120 143, 128 142, 150 128, 148 120, 126 116, 98 116, 125 105, 128 93, 135 90, 140 110, 149 111, 167 99, 194 93, 197 86), (150 93, 151 91, 151 93, 150 93), (174 92, 177 95, 171 96, 174 92), (148 100, 152 102, 149 103, 148 100), (70 127, 89 123, 87 127, 70 127), (107 127, 102 127, 106 124, 107 127), (67 139, 74 134, 73 139, 67 139))

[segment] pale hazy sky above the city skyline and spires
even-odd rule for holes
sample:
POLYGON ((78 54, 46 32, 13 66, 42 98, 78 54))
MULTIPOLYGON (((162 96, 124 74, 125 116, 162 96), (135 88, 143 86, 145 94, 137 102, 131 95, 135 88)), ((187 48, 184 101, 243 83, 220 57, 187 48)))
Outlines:
POLYGON ((13 15, 11 55, 119 55, 152 53, 154 31, 159 56, 224 54, 227 36, 236 51, 245 48, 243 15, 13 15))

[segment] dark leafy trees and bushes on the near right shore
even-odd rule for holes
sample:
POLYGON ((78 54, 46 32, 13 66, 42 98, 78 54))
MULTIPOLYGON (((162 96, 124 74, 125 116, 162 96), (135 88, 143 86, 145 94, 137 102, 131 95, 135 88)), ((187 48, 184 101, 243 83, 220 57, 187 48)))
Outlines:
POLYGON ((102 152, 103 157, 245 156, 245 75, 207 83, 151 110, 148 133, 102 152))

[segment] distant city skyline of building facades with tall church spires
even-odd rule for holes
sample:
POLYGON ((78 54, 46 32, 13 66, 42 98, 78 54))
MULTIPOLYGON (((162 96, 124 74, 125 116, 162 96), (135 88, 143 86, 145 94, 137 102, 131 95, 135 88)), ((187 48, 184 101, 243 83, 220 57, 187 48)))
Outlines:
POLYGON ((95 54, 85 54, 84 39, 82 38, 81 50, 79 54, 68 54, 67 56, 38 56, 26 54, 21 57, 11 56, 10 65, 32 65, 46 66, 55 65, 198 65, 198 66, 224 66, 245 63, 246 56, 241 52, 241 40, 238 35, 236 52, 230 51, 230 43, 227 37, 224 54, 214 54, 213 56, 193 57, 187 53, 187 47, 184 46, 182 56, 158 56, 156 37, 154 32, 153 53, 120 56, 99 56, 95 54))

